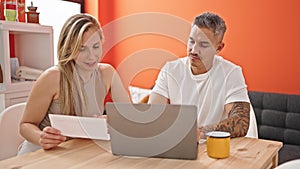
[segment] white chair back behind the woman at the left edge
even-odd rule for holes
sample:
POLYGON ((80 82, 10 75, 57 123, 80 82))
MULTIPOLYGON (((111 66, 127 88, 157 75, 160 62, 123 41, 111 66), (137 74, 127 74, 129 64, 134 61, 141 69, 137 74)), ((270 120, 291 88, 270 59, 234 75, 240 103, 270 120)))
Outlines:
POLYGON ((18 103, 0 114, 0 160, 16 156, 19 145, 25 140, 19 133, 25 106, 26 103, 18 103))

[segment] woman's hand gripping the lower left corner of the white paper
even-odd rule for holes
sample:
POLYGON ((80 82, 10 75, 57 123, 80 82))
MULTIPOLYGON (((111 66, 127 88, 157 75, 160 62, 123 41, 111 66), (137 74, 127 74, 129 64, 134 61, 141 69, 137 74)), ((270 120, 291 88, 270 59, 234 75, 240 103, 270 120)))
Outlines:
POLYGON ((44 150, 48 150, 66 141, 66 139, 67 137, 61 135, 59 130, 47 126, 43 129, 42 133, 40 134, 39 143, 44 150))

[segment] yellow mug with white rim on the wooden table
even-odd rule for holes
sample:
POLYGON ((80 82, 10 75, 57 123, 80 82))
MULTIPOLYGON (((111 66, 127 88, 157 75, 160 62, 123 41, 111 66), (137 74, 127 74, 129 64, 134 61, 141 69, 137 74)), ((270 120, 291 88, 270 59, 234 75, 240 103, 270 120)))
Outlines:
POLYGON ((230 154, 230 133, 212 131, 206 133, 207 155, 212 158, 227 158, 230 154))

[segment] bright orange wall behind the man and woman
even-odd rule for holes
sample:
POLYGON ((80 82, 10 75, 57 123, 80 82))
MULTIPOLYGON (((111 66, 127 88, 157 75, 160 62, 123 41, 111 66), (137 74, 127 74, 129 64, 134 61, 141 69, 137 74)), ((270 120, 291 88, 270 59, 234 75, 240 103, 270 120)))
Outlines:
POLYGON ((193 18, 212 11, 228 27, 220 54, 242 66, 249 90, 300 94, 298 0, 99 0, 98 5, 106 36, 102 61, 115 66, 127 84, 151 87, 166 60, 185 55, 183 39, 193 18))

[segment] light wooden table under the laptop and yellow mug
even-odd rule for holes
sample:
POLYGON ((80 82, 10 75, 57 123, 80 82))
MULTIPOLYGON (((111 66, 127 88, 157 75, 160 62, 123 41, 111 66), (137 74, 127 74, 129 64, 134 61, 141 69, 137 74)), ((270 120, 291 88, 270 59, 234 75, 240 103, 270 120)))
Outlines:
POLYGON ((38 150, 0 161, 0 168, 199 168, 266 169, 278 163, 281 142, 253 138, 231 139, 230 157, 213 159, 206 154, 206 144, 199 144, 197 160, 114 156, 108 141, 73 139, 52 150, 38 150))

